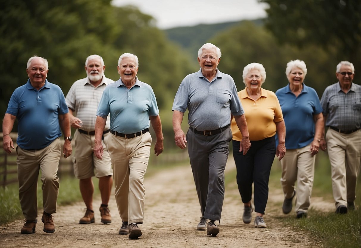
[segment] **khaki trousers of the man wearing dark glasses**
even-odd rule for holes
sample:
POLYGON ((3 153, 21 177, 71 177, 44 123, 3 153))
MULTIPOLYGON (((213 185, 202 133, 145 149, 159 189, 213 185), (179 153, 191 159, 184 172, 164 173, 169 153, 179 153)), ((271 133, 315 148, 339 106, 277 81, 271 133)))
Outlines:
POLYGON ((361 129, 343 134, 329 128, 326 142, 335 205, 336 208, 340 205, 347 206, 347 202, 353 202, 356 198, 356 182, 361 163, 361 129))

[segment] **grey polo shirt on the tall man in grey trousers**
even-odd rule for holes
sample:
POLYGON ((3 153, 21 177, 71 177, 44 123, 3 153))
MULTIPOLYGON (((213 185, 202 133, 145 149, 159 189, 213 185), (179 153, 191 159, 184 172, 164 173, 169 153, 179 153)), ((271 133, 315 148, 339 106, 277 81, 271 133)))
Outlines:
POLYGON ((217 69, 212 82, 198 72, 186 76, 175 95, 172 110, 188 113, 188 124, 198 131, 214 130, 231 122, 232 115, 243 115, 233 78, 217 69))

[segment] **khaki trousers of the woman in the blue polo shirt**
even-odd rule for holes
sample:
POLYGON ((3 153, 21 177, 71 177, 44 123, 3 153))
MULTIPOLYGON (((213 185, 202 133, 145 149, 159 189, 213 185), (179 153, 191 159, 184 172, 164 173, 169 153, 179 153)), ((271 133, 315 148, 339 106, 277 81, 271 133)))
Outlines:
POLYGON ((310 206, 314 178, 315 156, 311 155, 310 145, 299 149, 287 149, 281 160, 281 184, 285 198, 291 198, 296 188, 296 212, 307 212, 310 206))

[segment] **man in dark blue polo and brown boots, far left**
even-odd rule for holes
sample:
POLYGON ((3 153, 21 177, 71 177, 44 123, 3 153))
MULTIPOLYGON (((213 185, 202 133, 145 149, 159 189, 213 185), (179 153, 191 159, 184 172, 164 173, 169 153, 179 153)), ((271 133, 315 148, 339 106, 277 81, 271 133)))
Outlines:
POLYGON ((20 205, 25 216, 22 234, 35 233, 39 170, 43 182, 43 230, 47 233, 55 231, 52 214, 56 213, 59 190, 56 174, 61 156, 61 131, 65 137, 64 157, 69 157, 72 151, 68 107, 60 87, 46 79, 48 71, 46 59, 34 56, 28 60, 26 72, 29 80, 12 94, 3 121, 3 146, 7 153, 11 153, 14 144, 9 133, 18 119, 16 163, 20 205))

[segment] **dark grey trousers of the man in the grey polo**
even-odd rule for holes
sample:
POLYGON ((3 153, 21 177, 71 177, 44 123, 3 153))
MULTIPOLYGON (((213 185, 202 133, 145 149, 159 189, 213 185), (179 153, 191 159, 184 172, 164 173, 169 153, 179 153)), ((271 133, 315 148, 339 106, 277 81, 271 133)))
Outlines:
POLYGON ((202 216, 219 221, 225 194, 224 170, 232 132, 228 128, 221 133, 204 136, 189 129, 186 138, 202 216))

